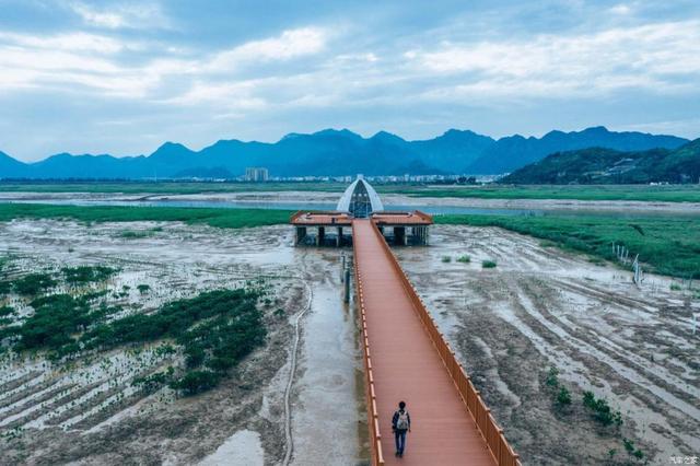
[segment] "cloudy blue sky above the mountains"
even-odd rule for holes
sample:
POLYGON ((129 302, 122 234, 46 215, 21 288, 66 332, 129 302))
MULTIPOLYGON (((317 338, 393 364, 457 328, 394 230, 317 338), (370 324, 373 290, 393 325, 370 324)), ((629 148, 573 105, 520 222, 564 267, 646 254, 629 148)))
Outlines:
POLYGON ((700 137, 700 2, 0 0, 0 150, 349 128, 700 137))

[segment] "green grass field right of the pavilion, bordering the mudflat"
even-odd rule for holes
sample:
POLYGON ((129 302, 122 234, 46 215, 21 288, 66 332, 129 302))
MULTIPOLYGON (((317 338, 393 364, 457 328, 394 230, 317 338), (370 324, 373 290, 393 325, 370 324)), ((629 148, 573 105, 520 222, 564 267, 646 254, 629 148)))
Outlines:
POLYGON ((621 244, 650 271, 700 278, 700 218, 436 215, 435 223, 500 226, 606 259, 621 244))

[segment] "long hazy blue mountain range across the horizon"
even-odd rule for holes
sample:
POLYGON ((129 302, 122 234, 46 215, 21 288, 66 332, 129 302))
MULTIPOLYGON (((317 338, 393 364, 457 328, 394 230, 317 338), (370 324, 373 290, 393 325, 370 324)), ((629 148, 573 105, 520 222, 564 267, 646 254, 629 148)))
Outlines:
POLYGON ((277 142, 220 140, 200 151, 165 142, 150 155, 116 158, 60 153, 23 163, 0 152, 0 178, 187 178, 235 177, 248 166, 265 166, 271 176, 424 174, 503 174, 553 152, 593 147, 618 151, 676 149, 687 139, 605 127, 550 131, 541 138, 520 135, 493 139, 451 129, 429 140, 407 141, 380 131, 363 138, 347 129, 290 133, 277 142))

